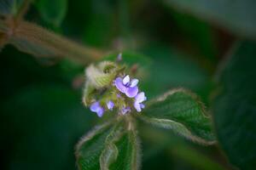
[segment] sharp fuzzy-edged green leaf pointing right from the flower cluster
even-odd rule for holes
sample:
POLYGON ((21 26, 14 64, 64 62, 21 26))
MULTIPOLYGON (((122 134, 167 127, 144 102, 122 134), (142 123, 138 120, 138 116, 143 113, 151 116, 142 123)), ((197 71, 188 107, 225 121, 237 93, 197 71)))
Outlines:
POLYGON ((197 143, 213 144, 214 135, 210 117, 195 94, 174 89, 146 105, 142 120, 157 127, 172 129, 197 143))

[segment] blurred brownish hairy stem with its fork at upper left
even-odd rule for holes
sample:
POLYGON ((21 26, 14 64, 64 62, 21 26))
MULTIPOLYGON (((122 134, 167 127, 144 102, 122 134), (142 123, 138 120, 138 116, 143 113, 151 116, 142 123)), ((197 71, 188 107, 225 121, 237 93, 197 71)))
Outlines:
POLYGON ((81 64, 100 59, 102 52, 99 50, 85 47, 23 20, 31 2, 32 0, 24 0, 15 16, 0 16, 0 48, 11 43, 28 54, 38 57, 66 57, 81 64))

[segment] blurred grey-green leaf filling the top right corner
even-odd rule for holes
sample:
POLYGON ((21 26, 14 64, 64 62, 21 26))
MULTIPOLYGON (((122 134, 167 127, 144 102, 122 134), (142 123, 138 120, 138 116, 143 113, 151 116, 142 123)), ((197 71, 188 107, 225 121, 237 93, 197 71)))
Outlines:
POLYGON ((254 0, 162 0, 183 13, 209 20, 241 36, 256 37, 254 0))

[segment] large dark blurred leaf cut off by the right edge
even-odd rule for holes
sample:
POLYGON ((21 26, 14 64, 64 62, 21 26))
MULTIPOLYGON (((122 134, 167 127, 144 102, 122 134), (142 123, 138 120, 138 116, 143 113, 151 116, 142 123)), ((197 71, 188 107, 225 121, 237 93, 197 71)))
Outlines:
POLYGON ((219 144, 231 163, 256 167, 256 43, 238 42, 222 65, 212 103, 219 144))

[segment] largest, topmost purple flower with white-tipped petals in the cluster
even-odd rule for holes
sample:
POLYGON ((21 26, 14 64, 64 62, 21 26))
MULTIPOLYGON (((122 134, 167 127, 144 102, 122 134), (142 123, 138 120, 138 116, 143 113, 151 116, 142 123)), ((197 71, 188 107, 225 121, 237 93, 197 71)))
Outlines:
POLYGON ((115 87, 118 88, 121 93, 126 94, 129 98, 134 98, 137 95, 137 83, 138 79, 132 79, 130 81, 129 75, 123 79, 121 77, 117 77, 114 81, 115 87))

